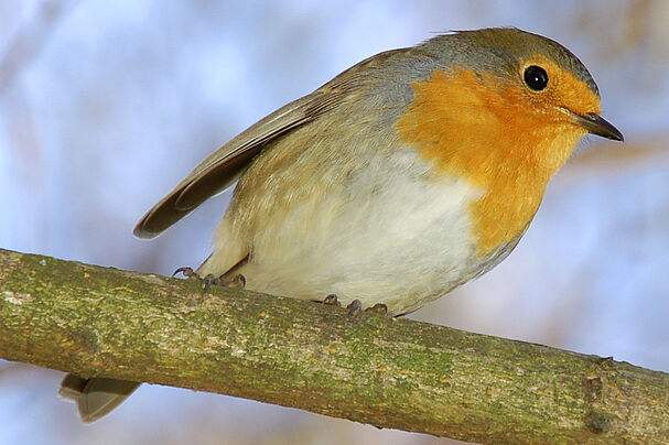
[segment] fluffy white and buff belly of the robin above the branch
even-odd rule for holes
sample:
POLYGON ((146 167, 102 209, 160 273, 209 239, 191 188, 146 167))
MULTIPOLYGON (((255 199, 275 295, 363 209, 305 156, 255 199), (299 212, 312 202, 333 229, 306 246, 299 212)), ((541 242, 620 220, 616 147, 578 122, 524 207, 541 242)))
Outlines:
MULTIPOLYGON (((411 150, 393 158, 370 162, 354 186, 263 218, 239 270, 247 289, 307 300, 334 293, 343 304, 358 299, 402 314, 468 279, 477 261, 467 209, 481 191, 464 180, 436 181, 411 150)), ((218 264, 236 261, 217 258, 238 237, 230 226, 224 219, 201 273, 223 273, 218 264)))

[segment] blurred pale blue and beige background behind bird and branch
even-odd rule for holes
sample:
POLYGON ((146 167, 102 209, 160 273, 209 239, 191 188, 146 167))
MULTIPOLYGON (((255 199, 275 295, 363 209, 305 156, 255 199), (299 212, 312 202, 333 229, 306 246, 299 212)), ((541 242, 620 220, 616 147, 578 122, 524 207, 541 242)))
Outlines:
MULTIPOLYGON (((592 139, 516 251, 411 317, 669 371, 669 2, 0 0, 0 247, 170 274, 229 192, 157 240, 132 227, 222 143, 380 51, 512 25, 590 68, 625 144, 592 139)), ((0 443, 449 443, 142 386, 93 425, 63 373, 0 361, 0 443)))

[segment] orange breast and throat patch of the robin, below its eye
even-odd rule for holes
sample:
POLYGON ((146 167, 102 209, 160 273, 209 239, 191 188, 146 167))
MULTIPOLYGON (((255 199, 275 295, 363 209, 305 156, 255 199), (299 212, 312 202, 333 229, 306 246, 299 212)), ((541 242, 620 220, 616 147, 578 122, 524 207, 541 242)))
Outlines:
POLYGON ((528 99, 517 85, 473 70, 436 70, 414 83, 413 94, 396 129, 440 171, 484 192, 470 209, 477 253, 521 235, 551 175, 585 131, 528 99))

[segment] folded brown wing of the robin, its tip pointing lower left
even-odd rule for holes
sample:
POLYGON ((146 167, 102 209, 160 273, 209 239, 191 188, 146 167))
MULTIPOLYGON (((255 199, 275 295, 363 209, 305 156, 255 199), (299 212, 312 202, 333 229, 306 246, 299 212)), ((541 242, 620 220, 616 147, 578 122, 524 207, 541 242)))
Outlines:
POLYGON ((339 74, 311 95, 292 101, 238 134, 197 165, 134 227, 139 238, 153 238, 193 211, 211 196, 229 187, 269 142, 336 108, 365 82, 364 65, 386 59, 401 50, 369 57, 339 74))

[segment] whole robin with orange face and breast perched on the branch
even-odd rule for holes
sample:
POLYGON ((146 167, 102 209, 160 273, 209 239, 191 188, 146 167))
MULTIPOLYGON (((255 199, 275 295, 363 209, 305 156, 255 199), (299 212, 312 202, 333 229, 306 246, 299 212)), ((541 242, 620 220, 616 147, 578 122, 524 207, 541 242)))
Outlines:
MULTIPOLYGON (((552 40, 440 35, 369 57, 251 126, 134 235, 158 236, 238 181, 212 254, 182 271, 402 315, 504 260, 583 135, 623 141, 600 102, 585 66, 552 40)), ((85 421, 138 384, 69 378, 85 421)))

